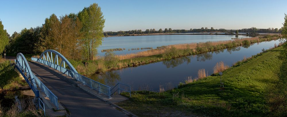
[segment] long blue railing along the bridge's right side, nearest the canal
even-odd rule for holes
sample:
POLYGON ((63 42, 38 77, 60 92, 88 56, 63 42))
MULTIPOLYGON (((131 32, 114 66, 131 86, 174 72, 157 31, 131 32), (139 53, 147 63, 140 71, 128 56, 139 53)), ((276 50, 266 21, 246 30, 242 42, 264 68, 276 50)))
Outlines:
POLYGON ((52 62, 49 62, 49 61, 45 61, 43 59, 39 59, 39 58, 34 58, 32 57, 31 58, 32 61, 36 61, 36 62, 39 62, 39 63, 42 63, 44 65, 48 65, 49 67, 52 67, 70 77, 72 77, 73 79, 76 79, 77 81, 91 87, 92 89, 95 89, 97 91, 99 91, 100 93, 103 93, 105 95, 107 95, 109 98, 110 98, 110 87, 107 86, 107 85, 104 85, 102 83, 99 83, 97 81, 94 81, 92 79, 89 79, 83 75, 80 75, 79 73, 76 73, 74 71, 71 71, 69 69, 66 69, 62 66, 59 66, 57 64, 54 64, 52 62))

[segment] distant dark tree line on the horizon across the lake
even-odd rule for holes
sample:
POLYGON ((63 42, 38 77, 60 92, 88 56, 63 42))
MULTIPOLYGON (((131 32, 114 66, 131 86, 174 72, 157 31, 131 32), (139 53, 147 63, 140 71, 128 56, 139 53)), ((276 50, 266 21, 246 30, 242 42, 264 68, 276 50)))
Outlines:
POLYGON ((118 31, 118 32, 112 32, 112 31, 107 31, 104 32, 104 36, 120 36, 120 35, 134 35, 134 34, 153 34, 153 33, 195 33, 195 32, 244 32, 244 33, 259 33, 259 32, 282 32, 281 28, 278 30, 278 28, 267 28, 267 29, 260 29, 260 28, 244 28, 241 30, 226 30, 223 28, 220 29, 214 29, 211 27, 208 29, 207 27, 205 28, 199 28, 199 29, 190 29, 190 30, 185 30, 185 29, 177 29, 177 30, 172 30, 171 28, 165 28, 162 30, 161 28, 159 30, 156 29, 146 29, 146 31, 142 30, 129 30, 129 31, 118 31))

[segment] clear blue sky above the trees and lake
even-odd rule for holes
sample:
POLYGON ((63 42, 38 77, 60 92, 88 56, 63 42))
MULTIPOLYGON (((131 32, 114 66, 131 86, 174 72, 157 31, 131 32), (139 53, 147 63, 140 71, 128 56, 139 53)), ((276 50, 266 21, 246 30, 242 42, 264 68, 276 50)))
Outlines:
POLYGON ((281 28, 287 0, 32 0, 1 1, 0 19, 9 34, 41 26, 52 13, 78 13, 98 3, 106 19, 104 31, 162 28, 281 28))

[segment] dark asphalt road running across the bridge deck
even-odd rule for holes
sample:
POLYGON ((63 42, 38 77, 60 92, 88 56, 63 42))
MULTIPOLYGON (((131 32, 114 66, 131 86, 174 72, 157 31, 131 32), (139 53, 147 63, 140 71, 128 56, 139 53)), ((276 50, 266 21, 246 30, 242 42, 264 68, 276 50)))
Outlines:
MULTIPOLYGON (((106 104, 95 96, 86 93, 79 87, 73 86, 65 79, 59 78, 60 74, 51 73, 41 65, 30 63, 32 72, 48 87, 58 100, 71 112, 73 117, 122 117, 127 116, 114 106, 106 104)), ((47 69, 47 68, 46 68, 47 69)))

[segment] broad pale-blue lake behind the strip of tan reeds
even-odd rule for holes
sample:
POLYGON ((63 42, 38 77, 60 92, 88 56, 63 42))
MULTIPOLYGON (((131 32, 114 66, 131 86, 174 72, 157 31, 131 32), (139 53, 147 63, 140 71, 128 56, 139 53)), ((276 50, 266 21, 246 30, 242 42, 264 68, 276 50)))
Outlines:
MULTIPOLYGON (((105 37, 102 45, 98 47, 98 56, 104 56, 103 49, 125 48, 123 51, 114 51, 115 54, 128 54, 140 52, 140 48, 167 46, 172 44, 197 43, 207 41, 222 41, 236 38, 235 35, 148 35, 148 36, 117 36, 105 37), (139 48, 139 50, 131 50, 139 48), (130 49, 130 50, 129 50, 130 49)), ((246 35, 238 35, 238 38, 248 38, 246 35)))

